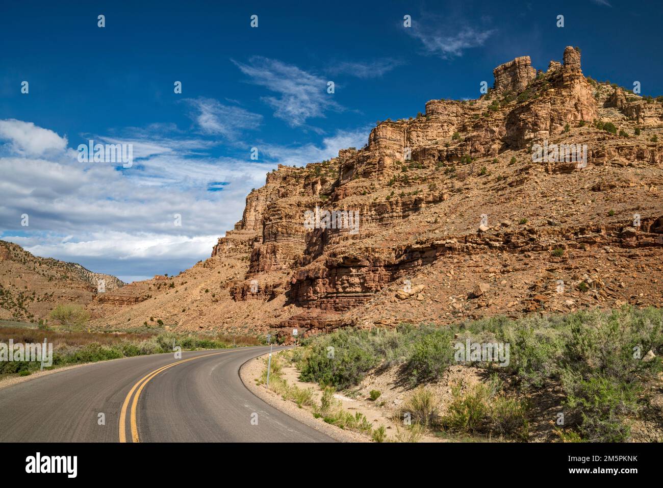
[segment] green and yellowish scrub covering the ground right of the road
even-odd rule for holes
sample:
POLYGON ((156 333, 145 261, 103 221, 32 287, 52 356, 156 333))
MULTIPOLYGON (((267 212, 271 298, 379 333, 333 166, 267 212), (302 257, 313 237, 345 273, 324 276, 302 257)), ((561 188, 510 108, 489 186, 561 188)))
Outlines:
MULTIPOLYGON (((367 375, 397 371, 408 396, 392 414, 411 421, 406 433, 415 438, 425 431, 445 438, 541 440, 530 432, 535 423, 548 438, 564 442, 627 442, 640 416, 661 420, 650 403, 663 391, 663 311, 656 308, 339 330, 305 339, 302 346, 292 353, 300 380, 332 393, 350 393, 367 375), (455 345, 467 340, 508 343, 509 361, 459 361, 455 345), (451 383, 449 396, 436 395, 434 387, 458 369, 481 381, 451 383), (552 391, 559 393, 557 404, 542 408, 552 391)), ((282 394, 308 401, 302 391, 282 394)), ((361 419, 347 424, 361 429, 361 419)))

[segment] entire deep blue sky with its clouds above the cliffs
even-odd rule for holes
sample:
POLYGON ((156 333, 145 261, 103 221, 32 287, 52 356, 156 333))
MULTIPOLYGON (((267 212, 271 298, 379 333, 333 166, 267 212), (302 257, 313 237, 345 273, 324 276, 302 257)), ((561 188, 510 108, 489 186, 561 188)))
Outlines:
POLYGON ((276 164, 361 147, 429 99, 477 97, 516 56, 546 69, 579 46, 585 75, 663 94, 656 2, 138 3, 0 16, 0 238, 125 280, 206 259, 276 164), (132 144, 133 166, 79 162, 88 139, 132 144))

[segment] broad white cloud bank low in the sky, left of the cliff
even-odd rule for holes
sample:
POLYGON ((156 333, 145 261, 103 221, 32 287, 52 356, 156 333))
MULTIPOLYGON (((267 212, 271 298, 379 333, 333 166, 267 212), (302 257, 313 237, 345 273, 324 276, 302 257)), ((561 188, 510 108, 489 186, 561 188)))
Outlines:
POLYGON ((0 238, 124 280, 184 270, 210 257, 218 237, 241 219, 251 188, 265 184, 277 164, 331 158, 339 149, 361 147, 368 133, 339 131, 320 145, 261 145, 261 161, 213 157, 205 154, 209 141, 151 139, 141 131, 133 139, 93 136, 134 144, 141 160, 126 169, 78 162, 71 148, 43 157, 0 156, 0 238))

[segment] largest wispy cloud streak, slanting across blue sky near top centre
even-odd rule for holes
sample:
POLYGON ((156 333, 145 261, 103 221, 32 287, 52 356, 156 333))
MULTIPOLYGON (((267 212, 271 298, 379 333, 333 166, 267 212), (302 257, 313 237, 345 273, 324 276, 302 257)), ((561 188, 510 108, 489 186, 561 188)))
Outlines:
POLYGON ((328 80, 321 76, 262 56, 253 56, 248 63, 232 62, 251 78, 251 83, 278 93, 278 96, 261 99, 274 109, 274 117, 286 121, 290 127, 300 127, 306 125, 308 119, 325 117, 328 110, 343 110, 333 100, 333 95, 327 93, 328 80))

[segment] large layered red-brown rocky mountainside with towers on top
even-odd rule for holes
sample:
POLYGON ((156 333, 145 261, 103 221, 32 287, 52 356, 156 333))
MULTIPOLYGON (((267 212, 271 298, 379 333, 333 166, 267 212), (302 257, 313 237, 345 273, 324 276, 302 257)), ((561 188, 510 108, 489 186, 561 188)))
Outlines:
POLYGON ((108 292, 97 324, 286 339, 663 305, 661 98, 586 78, 572 47, 546 72, 523 56, 494 75, 479 99, 379 123, 359 150, 279 166, 210 259, 108 292), (533 157, 572 144, 586 158, 533 157), (325 211, 340 225, 316 225, 325 211))

